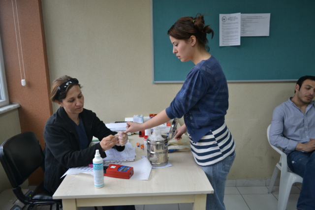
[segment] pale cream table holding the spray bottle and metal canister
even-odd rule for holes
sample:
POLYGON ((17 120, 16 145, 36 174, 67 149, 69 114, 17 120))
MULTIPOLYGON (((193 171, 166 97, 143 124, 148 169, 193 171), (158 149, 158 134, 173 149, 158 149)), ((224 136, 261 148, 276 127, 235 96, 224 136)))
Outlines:
MULTIPOLYGON (((143 144, 138 135, 129 136, 129 142, 143 144)), ((136 147, 136 160, 146 155, 136 147)), ((193 210, 206 209, 206 194, 213 188, 202 169, 195 163, 191 151, 168 153, 167 168, 152 169, 149 180, 124 180, 104 177, 102 188, 94 187, 94 178, 88 174, 67 175, 54 199, 63 200, 63 210, 78 207, 193 203, 193 210)), ((92 161, 92 160, 91 160, 92 161)))

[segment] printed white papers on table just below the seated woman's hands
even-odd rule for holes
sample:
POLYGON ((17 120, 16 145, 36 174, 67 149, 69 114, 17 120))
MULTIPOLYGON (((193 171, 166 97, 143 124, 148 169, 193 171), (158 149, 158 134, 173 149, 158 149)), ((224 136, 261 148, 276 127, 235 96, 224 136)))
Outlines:
POLYGON ((104 162, 113 162, 113 161, 132 161, 135 158, 136 152, 135 148, 128 142, 125 145, 124 151, 117 151, 116 149, 106 150, 106 157, 103 158, 104 162))

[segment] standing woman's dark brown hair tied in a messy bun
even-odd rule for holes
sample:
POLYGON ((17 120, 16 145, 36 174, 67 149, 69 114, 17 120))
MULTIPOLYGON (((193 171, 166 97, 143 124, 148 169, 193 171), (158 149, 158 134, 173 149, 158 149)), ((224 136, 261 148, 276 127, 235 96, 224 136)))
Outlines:
POLYGON ((205 26, 203 16, 198 13, 194 18, 182 17, 167 31, 167 34, 175 39, 185 40, 189 40, 190 36, 195 36, 200 46, 203 46, 209 52, 207 33, 212 33, 211 38, 213 38, 214 32, 209 25, 205 26))

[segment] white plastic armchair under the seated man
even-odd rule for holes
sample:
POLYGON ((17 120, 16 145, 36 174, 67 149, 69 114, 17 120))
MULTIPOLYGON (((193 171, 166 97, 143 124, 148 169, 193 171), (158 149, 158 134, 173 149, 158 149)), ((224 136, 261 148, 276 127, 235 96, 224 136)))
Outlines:
MULTIPOLYGON (((267 128, 267 138, 268 142, 270 144, 269 140, 269 130, 270 130, 270 125, 267 128)), ((274 173, 272 175, 270 185, 269 185, 269 190, 268 193, 272 192, 272 188, 274 187, 275 181, 277 179, 278 173, 281 170, 281 176, 280 176, 280 187, 279 187, 279 199, 278 199, 278 210, 285 210, 286 204, 289 198, 289 194, 291 191, 292 184, 295 182, 302 182, 303 178, 300 177, 299 175, 291 172, 288 167, 287 167, 287 162, 286 162, 286 154, 280 150, 279 148, 273 146, 270 144, 270 146, 276 150, 279 154, 281 154, 280 161, 277 163, 274 173)))

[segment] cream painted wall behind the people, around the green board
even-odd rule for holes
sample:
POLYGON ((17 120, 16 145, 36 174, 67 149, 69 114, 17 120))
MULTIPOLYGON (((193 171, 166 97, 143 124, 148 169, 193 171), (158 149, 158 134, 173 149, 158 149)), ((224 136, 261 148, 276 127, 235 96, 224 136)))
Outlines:
MULTIPOLYGON (((42 6, 51 82, 64 74, 77 78, 85 108, 105 123, 158 113, 180 90, 182 84, 152 84, 150 0, 42 0, 42 6)), ((237 152, 229 179, 271 177, 279 155, 266 129, 294 86, 228 84, 226 124, 237 152)))

